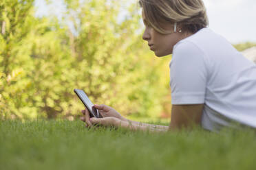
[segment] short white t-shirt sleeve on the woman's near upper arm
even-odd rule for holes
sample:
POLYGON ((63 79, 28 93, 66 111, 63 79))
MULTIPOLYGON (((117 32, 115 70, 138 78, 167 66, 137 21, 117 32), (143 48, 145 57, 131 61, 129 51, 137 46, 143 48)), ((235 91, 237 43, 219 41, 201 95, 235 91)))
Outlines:
POLYGON ((193 42, 180 42, 169 66, 172 104, 204 104, 207 70, 203 51, 193 42))

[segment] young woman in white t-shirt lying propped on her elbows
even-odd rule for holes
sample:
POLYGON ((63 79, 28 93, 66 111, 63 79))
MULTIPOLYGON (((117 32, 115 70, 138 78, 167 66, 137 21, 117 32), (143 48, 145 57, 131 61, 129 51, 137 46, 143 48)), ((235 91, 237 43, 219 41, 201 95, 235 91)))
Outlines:
MULTIPOLYGON (((256 65, 222 36, 207 28, 202 0, 140 0, 145 32, 142 36, 158 57, 172 54, 171 123, 168 126, 129 121, 114 108, 96 105, 102 119, 83 121, 91 126, 167 131, 202 125, 218 131, 233 122, 256 127, 256 65)), ((225 25, 223 25, 224 27, 225 25)))

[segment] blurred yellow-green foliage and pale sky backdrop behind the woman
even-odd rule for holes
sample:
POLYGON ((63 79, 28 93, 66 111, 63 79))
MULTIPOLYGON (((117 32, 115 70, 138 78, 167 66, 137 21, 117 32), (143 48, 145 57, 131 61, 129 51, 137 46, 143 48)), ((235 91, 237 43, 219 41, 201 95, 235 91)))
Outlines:
MULTIPOLYGON (((256 1, 204 2, 213 31, 239 51, 256 45, 256 1)), ((140 12, 138 1, 1 0, 0 119, 74 120, 74 88, 126 117, 169 119, 171 56, 149 51, 140 12)))

